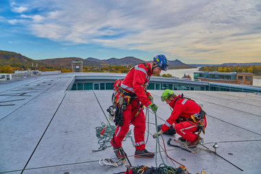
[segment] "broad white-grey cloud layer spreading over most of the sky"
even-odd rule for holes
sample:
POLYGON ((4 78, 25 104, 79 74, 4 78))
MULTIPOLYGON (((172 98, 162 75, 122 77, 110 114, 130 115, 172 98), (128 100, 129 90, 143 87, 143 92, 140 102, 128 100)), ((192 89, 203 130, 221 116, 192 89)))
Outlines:
MULTIPOLYGON (((256 0, 25 0, 15 5, 32 34, 63 44, 95 43, 188 59, 225 58, 251 42, 260 45, 261 3, 256 0)), ((252 51, 258 53, 256 45, 252 51)))

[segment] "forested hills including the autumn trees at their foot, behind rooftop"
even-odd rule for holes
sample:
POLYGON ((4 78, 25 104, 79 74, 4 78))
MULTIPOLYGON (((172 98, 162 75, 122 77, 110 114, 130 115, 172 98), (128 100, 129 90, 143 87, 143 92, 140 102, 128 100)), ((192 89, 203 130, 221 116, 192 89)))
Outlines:
MULTIPOLYGON (((124 58, 109 58, 100 60, 98 58, 48 58, 43 60, 33 60, 16 52, 0 50, 0 73, 14 73, 15 70, 39 69, 42 72, 60 70, 61 72, 71 72, 72 61, 82 61, 83 72, 122 72, 126 73, 131 67, 139 63, 147 63, 133 56, 124 58)), ((190 68, 179 60, 169 61, 169 69, 190 68)))

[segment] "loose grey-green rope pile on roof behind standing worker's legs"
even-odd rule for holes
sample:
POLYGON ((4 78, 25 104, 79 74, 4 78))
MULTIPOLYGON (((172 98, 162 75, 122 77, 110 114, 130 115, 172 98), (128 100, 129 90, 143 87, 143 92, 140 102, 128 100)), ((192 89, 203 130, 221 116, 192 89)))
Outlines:
MULTIPOLYGON (((98 150, 93 151, 102 151, 106 149, 107 147, 111 146, 109 142, 111 142, 111 139, 113 138, 114 132, 116 130, 116 127, 114 125, 104 124, 104 122, 101 123, 101 127, 95 127, 96 129, 96 136, 98 137, 98 144, 100 144, 100 147, 98 150), (104 133, 101 135, 101 131, 104 130, 104 133), (109 144, 109 145, 107 145, 109 144)), ((127 138, 131 138, 131 142, 133 143, 133 146, 135 146, 135 142, 133 141, 133 137, 131 136, 131 130, 126 133, 124 140, 126 141, 127 138)))

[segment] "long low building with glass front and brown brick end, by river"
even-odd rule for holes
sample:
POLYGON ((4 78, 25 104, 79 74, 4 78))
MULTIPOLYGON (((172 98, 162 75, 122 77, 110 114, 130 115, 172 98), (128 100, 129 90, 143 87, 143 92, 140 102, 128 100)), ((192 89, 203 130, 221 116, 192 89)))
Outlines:
POLYGON ((194 80, 253 85, 253 73, 194 72, 194 80))

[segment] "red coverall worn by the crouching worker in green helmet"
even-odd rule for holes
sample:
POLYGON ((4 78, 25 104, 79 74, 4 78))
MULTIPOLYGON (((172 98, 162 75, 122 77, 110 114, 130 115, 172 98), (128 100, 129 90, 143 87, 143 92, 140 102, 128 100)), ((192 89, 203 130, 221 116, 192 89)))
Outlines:
MULTIPOLYGON (((177 98, 179 97, 181 97, 181 95, 177 96, 177 98)), ((163 126, 161 127, 161 130, 165 132, 172 124, 175 124, 174 129, 176 133, 181 135, 182 138, 184 138, 185 140, 193 142, 197 137, 196 133, 194 133, 197 129, 197 126, 185 120, 189 119, 194 113, 198 113, 201 110, 201 107, 199 107, 196 102, 187 98, 181 98, 177 100, 174 105, 174 101, 177 98, 174 98, 174 100, 169 103, 170 107, 173 108, 173 111, 170 118, 168 118, 165 124, 163 124, 163 126), (176 120, 179 116, 182 119, 180 123, 177 123, 176 120)), ((203 118, 203 125, 204 127, 207 126, 206 117, 203 118)))

